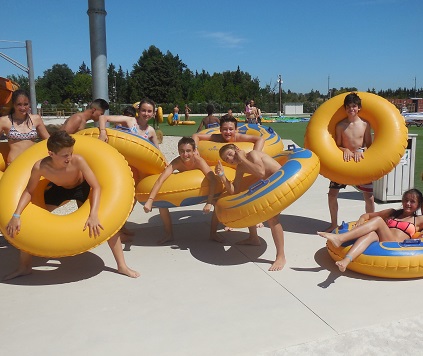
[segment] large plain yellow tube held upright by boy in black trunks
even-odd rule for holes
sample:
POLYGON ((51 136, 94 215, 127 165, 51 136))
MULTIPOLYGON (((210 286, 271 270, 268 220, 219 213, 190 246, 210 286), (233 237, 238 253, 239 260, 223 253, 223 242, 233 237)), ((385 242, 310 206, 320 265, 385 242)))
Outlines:
POLYGON ((100 186, 99 220, 104 230, 100 237, 83 231, 89 216, 89 199, 75 212, 55 215, 44 209, 44 187, 40 181, 31 203, 21 214, 21 230, 15 238, 6 233, 6 226, 16 209, 36 161, 47 156, 46 141, 29 147, 7 168, 0 179, 0 229, 15 247, 42 257, 72 256, 85 252, 108 240, 122 227, 133 205, 134 185, 131 171, 122 155, 100 140, 75 135, 74 153, 85 158, 100 186), (119 189, 116 189, 119 187, 119 189))

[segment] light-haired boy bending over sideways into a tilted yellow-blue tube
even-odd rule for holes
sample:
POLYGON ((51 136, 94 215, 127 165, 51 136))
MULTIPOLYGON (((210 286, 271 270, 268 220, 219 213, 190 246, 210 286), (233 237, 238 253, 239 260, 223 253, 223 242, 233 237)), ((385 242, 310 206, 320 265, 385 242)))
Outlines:
MULTIPOLYGON (((272 157, 261 151, 245 151, 240 150, 234 144, 227 144, 220 148, 219 155, 226 163, 236 165, 235 179, 233 183, 225 176, 224 167, 219 161, 215 167, 215 173, 220 177, 229 194, 237 194, 240 192, 242 177, 245 173, 249 173, 257 179, 266 179, 281 168, 281 165, 272 157)), ((286 263, 284 252, 284 234, 282 225, 279 222, 279 214, 267 220, 270 230, 272 231, 273 241, 276 246, 276 260, 270 266, 269 271, 280 271, 286 263)), ((260 238, 257 235, 255 226, 249 227, 250 236, 238 242, 243 245, 260 245, 260 238)))

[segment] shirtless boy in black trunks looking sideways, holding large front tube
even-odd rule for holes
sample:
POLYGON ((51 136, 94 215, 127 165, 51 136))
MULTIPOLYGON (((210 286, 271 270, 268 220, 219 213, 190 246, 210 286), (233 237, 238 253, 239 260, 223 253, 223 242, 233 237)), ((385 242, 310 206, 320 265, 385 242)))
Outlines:
MULTIPOLYGON (((65 131, 56 131, 51 134, 47 140, 48 156, 34 164, 28 184, 6 227, 10 237, 18 238, 21 226, 20 215, 31 201, 32 194, 41 177, 50 181, 48 189, 44 192, 44 200, 49 211, 72 199, 75 199, 78 206, 81 206, 88 199, 90 189, 92 189, 90 215, 81 229, 85 231, 88 228, 90 237, 95 238, 100 235, 103 229, 98 219, 101 188, 85 159, 80 155, 73 154, 74 144, 75 139, 65 131)), ((139 277, 139 273, 130 269, 125 263, 119 234, 110 238, 108 243, 117 262, 118 272, 132 278, 139 277)), ((17 270, 4 279, 12 279, 31 272, 32 257, 21 251, 17 270)))

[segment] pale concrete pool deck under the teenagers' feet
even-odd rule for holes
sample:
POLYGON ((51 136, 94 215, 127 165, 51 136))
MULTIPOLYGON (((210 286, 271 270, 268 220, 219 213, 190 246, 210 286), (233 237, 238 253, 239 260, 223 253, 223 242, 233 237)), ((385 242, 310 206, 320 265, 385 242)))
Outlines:
MULTIPOLYGON (((3 355, 411 355, 420 354, 421 280, 341 274, 325 240, 329 181, 319 176, 280 215, 287 264, 269 272, 275 257, 270 229, 261 246, 235 243, 246 229, 219 230, 208 239, 202 206, 171 209, 175 240, 157 246, 157 210, 135 206, 124 244, 131 279, 116 273, 103 244, 61 259, 35 258, 34 273, 0 284, 3 355)), ((376 209, 399 203, 377 204, 376 209)), ((356 219, 360 193, 339 194, 339 216, 356 219)), ((18 251, 0 239, 0 271, 18 251)))

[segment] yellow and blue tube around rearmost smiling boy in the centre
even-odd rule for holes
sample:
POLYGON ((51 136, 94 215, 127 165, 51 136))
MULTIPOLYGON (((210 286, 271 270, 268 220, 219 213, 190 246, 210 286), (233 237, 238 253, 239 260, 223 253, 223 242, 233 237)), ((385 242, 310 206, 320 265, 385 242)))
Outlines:
MULTIPOLYGON (((283 142, 280 136, 268 126, 254 125, 254 124, 239 124, 238 132, 246 135, 261 136, 264 138, 263 152, 274 158, 278 162, 283 159, 283 142)), ((199 134, 220 134, 220 127, 213 127, 199 132, 199 134)), ((250 152, 254 144, 251 142, 234 142, 241 150, 250 152)), ((226 143, 219 143, 213 141, 200 141, 198 143, 198 152, 203 157, 209 166, 215 166, 220 160, 219 150, 226 143)), ((228 167, 234 167, 222 161, 222 164, 228 167)))

